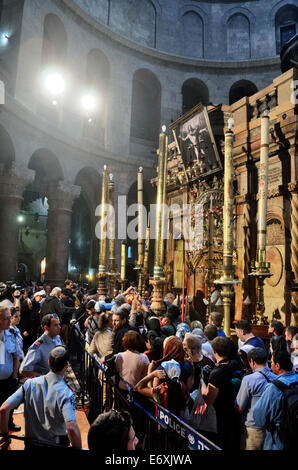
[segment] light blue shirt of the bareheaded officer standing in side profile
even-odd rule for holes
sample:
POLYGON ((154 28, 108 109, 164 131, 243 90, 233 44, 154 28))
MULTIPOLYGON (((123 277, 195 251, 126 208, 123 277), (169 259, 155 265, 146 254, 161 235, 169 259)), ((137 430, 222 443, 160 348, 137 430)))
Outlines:
POLYGON ((56 346, 61 346, 60 336, 54 339, 44 333, 33 343, 21 364, 20 372, 37 372, 38 374, 47 374, 50 370, 49 354, 56 346))

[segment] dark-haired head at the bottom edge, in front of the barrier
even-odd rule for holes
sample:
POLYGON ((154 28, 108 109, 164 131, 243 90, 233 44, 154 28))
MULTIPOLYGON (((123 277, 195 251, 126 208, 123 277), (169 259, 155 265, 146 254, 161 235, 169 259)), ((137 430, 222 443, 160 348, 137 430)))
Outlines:
POLYGON ((88 432, 88 447, 97 454, 135 450, 138 439, 130 414, 111 410, 100 414, 88 432))

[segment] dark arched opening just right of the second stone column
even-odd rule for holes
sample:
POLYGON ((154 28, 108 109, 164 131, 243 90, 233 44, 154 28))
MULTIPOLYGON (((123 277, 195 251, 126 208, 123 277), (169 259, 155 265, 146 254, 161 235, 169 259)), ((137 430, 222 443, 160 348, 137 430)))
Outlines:
POLYGON ((77 282, 94 285, 99 259, 95 209, 100 204, 101 177, 94 168, 83 168, 77 174, 74 184, 82 189, 72 209, 69 276, 77 282))

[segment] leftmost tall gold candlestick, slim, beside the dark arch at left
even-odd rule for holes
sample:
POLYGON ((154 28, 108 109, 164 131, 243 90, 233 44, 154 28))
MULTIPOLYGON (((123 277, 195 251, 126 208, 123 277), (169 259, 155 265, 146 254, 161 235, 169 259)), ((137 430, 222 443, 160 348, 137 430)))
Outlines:
POLYGON ((108 196, 108 175, 107 167, 104 166, 102 173, 102 192, 101 192, 101 226, 100 226, 100 248, 99 248, 99 266, 98 266, 98 293, 106 294, 106 247, 107 247, 107 196, 108 196))

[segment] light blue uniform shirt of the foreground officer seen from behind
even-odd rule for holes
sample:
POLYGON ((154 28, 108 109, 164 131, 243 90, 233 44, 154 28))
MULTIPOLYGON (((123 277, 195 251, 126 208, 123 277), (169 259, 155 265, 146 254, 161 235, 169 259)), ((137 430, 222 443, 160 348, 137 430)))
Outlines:
POLYGON ((25 437, 44 444, 59 444, 66 423, 76 421, 74 393, 54 372, 26 380, 7 402, 14 408, 24 403, 25 437))

